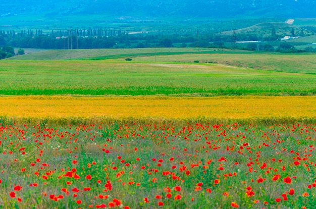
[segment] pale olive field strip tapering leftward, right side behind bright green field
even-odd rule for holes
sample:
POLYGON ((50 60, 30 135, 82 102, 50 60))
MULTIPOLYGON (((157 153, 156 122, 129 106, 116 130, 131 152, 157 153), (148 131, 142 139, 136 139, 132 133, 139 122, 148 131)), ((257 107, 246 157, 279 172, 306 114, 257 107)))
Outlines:
MULTIPOLYGON (((136 62, 152 62, 153 56, 133 58, 136 62)), ((268 54, 268 53, 210 53, 195 55, 161 55, 156 58, 159 62, 193 62, 217 63, 228 66, 264 69, 291 73, 316 73, 316 61, 313 54, 268 54), (298 64, 299 63, 299 64, 298 64)))

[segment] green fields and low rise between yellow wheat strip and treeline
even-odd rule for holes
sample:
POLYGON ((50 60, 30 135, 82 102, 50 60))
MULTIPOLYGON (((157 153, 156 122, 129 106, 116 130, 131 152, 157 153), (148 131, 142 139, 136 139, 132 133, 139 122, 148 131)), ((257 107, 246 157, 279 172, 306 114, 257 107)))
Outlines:
MULTIPOLYGON (((1 94, 316 94, 316 61, 312 55, 184 50, 156 49, 156 62, 153 48, 89 50, 94 57, 90 60, 3 60, 1 94), (138 53, 132 54, 135 51, 138 53), (125 61, 126 57, 133 60, 125 61), (193 63, 194 60, 200 62, 193 63)), ((54 55, 61 59, 72 54, 80 59, 85 53, 86 50, 51 50, 37 58, 45 54, 45 59, 54 59, 54 55)), ((19 58, 34 59, 36 55, 19 58)))

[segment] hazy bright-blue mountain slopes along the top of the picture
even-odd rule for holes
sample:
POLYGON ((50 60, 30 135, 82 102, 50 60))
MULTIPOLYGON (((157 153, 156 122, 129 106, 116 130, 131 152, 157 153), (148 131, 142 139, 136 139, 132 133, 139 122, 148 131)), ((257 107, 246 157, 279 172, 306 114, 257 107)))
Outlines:
POLYGON ((11 0, 2 17, 104 15, 117 20, 283 17, 315 18, 316 0, 11 0))

